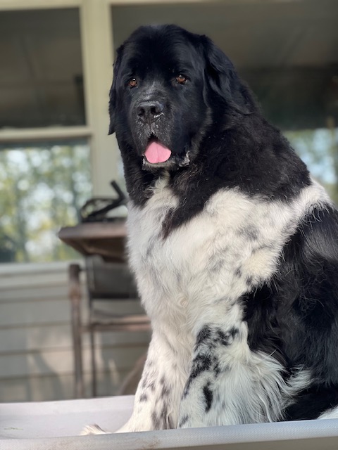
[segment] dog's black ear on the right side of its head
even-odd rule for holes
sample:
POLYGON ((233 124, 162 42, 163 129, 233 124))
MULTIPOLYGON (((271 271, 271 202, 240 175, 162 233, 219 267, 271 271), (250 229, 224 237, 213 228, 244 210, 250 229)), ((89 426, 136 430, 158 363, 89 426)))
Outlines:
POLYGON ((255 102, 249 88, 239 79, 229 58, 206 36, 201 37, 206 60, 206 79, 215 94, 239 113, 249 114, 255 102))

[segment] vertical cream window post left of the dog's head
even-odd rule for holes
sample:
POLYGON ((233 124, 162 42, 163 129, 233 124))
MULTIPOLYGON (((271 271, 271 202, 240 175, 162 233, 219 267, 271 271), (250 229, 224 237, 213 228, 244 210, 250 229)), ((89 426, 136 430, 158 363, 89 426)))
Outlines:
POLYGON ((108 93, 111 86, 113 42, 111 6, 107 0, 83 0, 80 8, 84 98, 92 129, 92 181, 95 195, 111 194, 118 178, 118 146, 108 136, 108 93))

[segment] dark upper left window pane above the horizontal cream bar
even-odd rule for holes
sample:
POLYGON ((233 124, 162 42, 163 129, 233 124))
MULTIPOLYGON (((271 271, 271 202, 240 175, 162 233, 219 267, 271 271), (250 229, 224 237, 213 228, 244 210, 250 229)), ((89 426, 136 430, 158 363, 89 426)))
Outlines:
POLYGON ((0 129, 84 124, 77 9, 0 11, 0 129))

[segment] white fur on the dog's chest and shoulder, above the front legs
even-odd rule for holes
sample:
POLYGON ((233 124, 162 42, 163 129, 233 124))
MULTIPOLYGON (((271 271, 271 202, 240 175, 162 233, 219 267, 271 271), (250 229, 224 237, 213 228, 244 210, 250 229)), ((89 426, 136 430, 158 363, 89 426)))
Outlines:
POLYGON ((218 304, 211 314, 221 314, 223 323, 227 316, 230 323, 240 321, 235 300, 270 278, 283 245, 316 197, 323 199, 316 184, 292 203, 225 189, 163 238, 163 221, 177 199, 165 179, 159 180, 145 207, 130 205, 127 221, 130 264, 153 326, 196 332, 204 326, 201 306, 208 304, 218 304))

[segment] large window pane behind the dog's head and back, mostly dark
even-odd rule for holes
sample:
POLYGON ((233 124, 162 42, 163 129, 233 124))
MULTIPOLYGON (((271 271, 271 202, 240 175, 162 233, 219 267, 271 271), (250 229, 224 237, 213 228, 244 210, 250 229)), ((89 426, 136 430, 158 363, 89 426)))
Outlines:
POLYGON ((338 203, 337 18, 336 0, 112 7, 115 46, 149 23, 211 37, 338 203))

